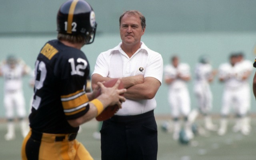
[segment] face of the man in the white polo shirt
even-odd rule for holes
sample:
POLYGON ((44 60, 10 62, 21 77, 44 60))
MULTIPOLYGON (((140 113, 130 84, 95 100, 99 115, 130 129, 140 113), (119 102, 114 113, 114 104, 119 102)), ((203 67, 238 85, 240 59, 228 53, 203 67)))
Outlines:
POLYGON ((125 45, 140 44, 142 29, 140 17, 134 14, 125 14, 120 22, 120 36, 125 45))

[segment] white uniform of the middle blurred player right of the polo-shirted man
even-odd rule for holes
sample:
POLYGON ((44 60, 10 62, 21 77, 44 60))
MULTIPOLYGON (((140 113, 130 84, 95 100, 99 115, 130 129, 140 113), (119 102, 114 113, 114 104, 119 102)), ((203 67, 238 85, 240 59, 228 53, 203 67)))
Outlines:
POLYGON ((195 75, 194 93, 198 106, 203 114, 208 114, 212 109, 212 91, 208 81, 212 76, 212 66, 203 63, 196 64, 195 75))

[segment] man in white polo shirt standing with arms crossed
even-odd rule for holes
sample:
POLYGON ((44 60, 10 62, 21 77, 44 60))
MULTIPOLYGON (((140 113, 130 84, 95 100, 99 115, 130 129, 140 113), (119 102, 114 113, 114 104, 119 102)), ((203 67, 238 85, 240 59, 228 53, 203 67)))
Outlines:
POLYGON ((122 110, 103 121, 100 131, 102 160, 156 160, 158 137, 154 97, 162 83, 162 56, 140 41, 146 29, 142 13, 126 11, 119 22, 122 42, 98 56, 92 74, 92 88, 97 82, 118 77, 122 77, 127 88, 122 110))

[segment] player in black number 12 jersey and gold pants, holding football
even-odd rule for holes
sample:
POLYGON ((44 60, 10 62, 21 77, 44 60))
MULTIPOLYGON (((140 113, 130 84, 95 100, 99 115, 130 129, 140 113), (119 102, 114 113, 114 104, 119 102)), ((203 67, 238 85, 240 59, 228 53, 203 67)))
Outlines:
POLYGON ((31 129, 22 144, 22 160, 92 160, 76 140, 79 126, 125 101, 119 94, 126 89, 117 89, 120 80, 112 88, 99 82, 92 93, 85 92, 90 66, 81 48, 94 41, 96 25, 86 1, 68 0, 60 6, 58 39, 46 42, 35 63, 31 129))

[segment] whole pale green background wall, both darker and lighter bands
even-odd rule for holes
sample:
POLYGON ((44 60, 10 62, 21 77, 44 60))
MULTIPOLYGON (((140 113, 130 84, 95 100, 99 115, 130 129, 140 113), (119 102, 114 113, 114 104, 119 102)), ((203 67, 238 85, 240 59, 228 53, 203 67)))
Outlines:
MULTIPOLYGON (((33 68, 42 45, 56 37, 56 13, 65 0, 0 0, 0 60, 15 54, 33 68)), ((162 54, 168 64, 173 54, 194 72, 198 57, 208 54, 214 68, 228 61, 232 51, 243 51, 254 62, 256 44, 255 0, 88 0, 98 23, 95 42, 82 50, 93 71, 100 52, 120 42, 118 18, 125 10, 140 10, 146 16, 142 41, 162 54)), ((253 73, 254 74, 254 71, 253 73)), ((24 78, 24 93, 29 110, 32 88, 24 78)), ((252 83, 252 76, 250 77, 252 83)), ((188 83, 192 108, 196 107, 193 79, 188 83)), ((223 85, 215 78, 212 84, 214 113, 220 112, 223 85)), ((0 78, 0 117, 4 116, 3 78, 0 78)), ((156 95, 156 114, 169 114, 167 86, 156 95)), ((256 112, 252 96, 252 112, 256 112)))

